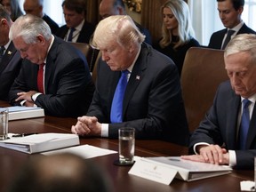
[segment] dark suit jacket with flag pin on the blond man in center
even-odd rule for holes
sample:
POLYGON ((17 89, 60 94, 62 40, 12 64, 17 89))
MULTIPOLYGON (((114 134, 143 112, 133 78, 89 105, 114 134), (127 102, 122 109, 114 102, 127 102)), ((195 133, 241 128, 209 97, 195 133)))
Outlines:
POLYGON ((109 124, 108 136, 117 138, 118 128, 134 127, 137 139, 163 139, 188 144, 188 124, 175 64, 148 44, 142 44, 124 95, 124 123, 110 124, 110 109, 119 71, 105 61, 98 64, 96 91, 87 116, 109 124))

